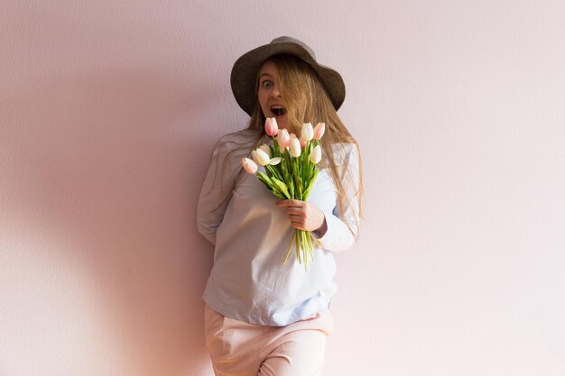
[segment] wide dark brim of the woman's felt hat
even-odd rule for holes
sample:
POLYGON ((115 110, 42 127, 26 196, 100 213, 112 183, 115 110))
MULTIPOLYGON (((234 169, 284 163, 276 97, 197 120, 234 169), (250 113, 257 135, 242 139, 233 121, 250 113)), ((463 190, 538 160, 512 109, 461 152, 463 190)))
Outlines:
POLYGON ((320 65, 300 45, 292 42, 280 42, 265 44, 250 50, 237 59, 234 64, 230 78, 231 87, 237 104, 245 113, 251 115, 255 108, 255 80, 257 72, 261 69, 265 60, 279 54, 293 55, 308 63, 318 73, 322 85, 328 92, 331 103, 336 111, 338 110, 346 96, 346 87, 339 73, 320 65))

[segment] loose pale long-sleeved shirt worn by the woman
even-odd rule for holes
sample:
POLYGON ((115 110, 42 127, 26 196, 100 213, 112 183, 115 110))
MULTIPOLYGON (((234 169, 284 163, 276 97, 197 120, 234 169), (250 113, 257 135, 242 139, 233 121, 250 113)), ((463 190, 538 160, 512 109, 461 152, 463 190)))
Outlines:
MULTIPOLYGON (((294 228, 285 208, 274 206, 278 198, 245 171, 232 190, 256 134, 251 130, 227 134, 212 155, 197 213, 199 233, 216 245, 203 298, 224 316, 251 324, 286 326, 328 309, 337 290, 333 252, 350 248, 358 231, 357 148, 340 143, 332 149, 351 202, 342 218, 326 169, 320 168, 311 188, 308 201, 324 212, 328 230, 319 239, 320 245, 314 244, 314 259, 308 261, 305 271, 294 246, 282 263, 294 228), (351 179, 346 178, 349 175, 351 179)), ((262 142, 270 139, 264 136, 262 142)))

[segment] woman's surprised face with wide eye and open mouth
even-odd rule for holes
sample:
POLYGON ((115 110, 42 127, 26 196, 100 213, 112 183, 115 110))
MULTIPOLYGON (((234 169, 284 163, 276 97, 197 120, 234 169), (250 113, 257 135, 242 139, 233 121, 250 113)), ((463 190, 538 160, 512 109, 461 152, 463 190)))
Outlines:
POLYGON ((282 101, 279 72, 273 62, 266 61, 259 69, 257 97, 264 117, 274 117, 280 128, 286 127, 286 107, 282 101))

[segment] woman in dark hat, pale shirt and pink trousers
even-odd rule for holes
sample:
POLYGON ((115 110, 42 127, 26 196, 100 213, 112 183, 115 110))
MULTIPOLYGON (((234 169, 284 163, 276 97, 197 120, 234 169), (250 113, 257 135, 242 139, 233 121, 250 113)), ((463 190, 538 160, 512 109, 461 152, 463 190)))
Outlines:
POLYGON ((231 86, 251 119, 218 141, 197 215, 215 244, 203 297, 212 365, 217 376, 320 375, 333 330, 334 253, 350 248, 359 228, 359 151, 336 113, 345 85, 303 42, 280 37, 236 60, 231 86), (242 169, 242 158, 271 142, 267 117, 296 134, 303 123, 326 124, 308 202, 278 200, 242 169), (295 229, 318 240, 307 271, 293 252, 282 263, 295 229))

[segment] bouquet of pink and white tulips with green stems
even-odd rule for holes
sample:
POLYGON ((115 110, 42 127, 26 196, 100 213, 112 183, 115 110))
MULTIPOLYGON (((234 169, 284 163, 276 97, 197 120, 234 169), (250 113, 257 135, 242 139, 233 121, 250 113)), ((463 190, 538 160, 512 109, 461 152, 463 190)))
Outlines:
MULTIPOLYGON (((264 143, 255 151, 251 151, 253 159, 244 158, 242 165, 248 173, 255 174, 264 187, 281 199, 298 199, 306 201, 310 188, 318 176, 318 162, 321 160, 321 148, 318 144, 324 134, 326 125, 320 123, 315 127, 307 123, 302 125, 301 136, 279 130, 276 119, 267 118, 264 131, 273 139, 273 144, 264 143), (257 171, 257 164, 264 167, 265 172, 257 171)), ((286 262, 292 249, 296 249, 296 258, 304 261, 307 267, 308 255, 313 258, 312 234, 310 231, 295 229, 291 244, 282 262, 286 262)), ((315 240, 315 239, 314 239, 315 240)))

